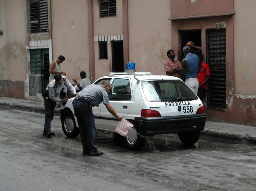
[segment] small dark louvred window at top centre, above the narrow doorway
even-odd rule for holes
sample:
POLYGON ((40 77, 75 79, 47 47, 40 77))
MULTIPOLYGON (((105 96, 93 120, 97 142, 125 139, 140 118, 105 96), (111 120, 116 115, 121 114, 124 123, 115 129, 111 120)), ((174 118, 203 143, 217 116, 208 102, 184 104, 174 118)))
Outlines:
POLYGON ((100 17, 116 16, 116 0, 100 0, 100 17))

